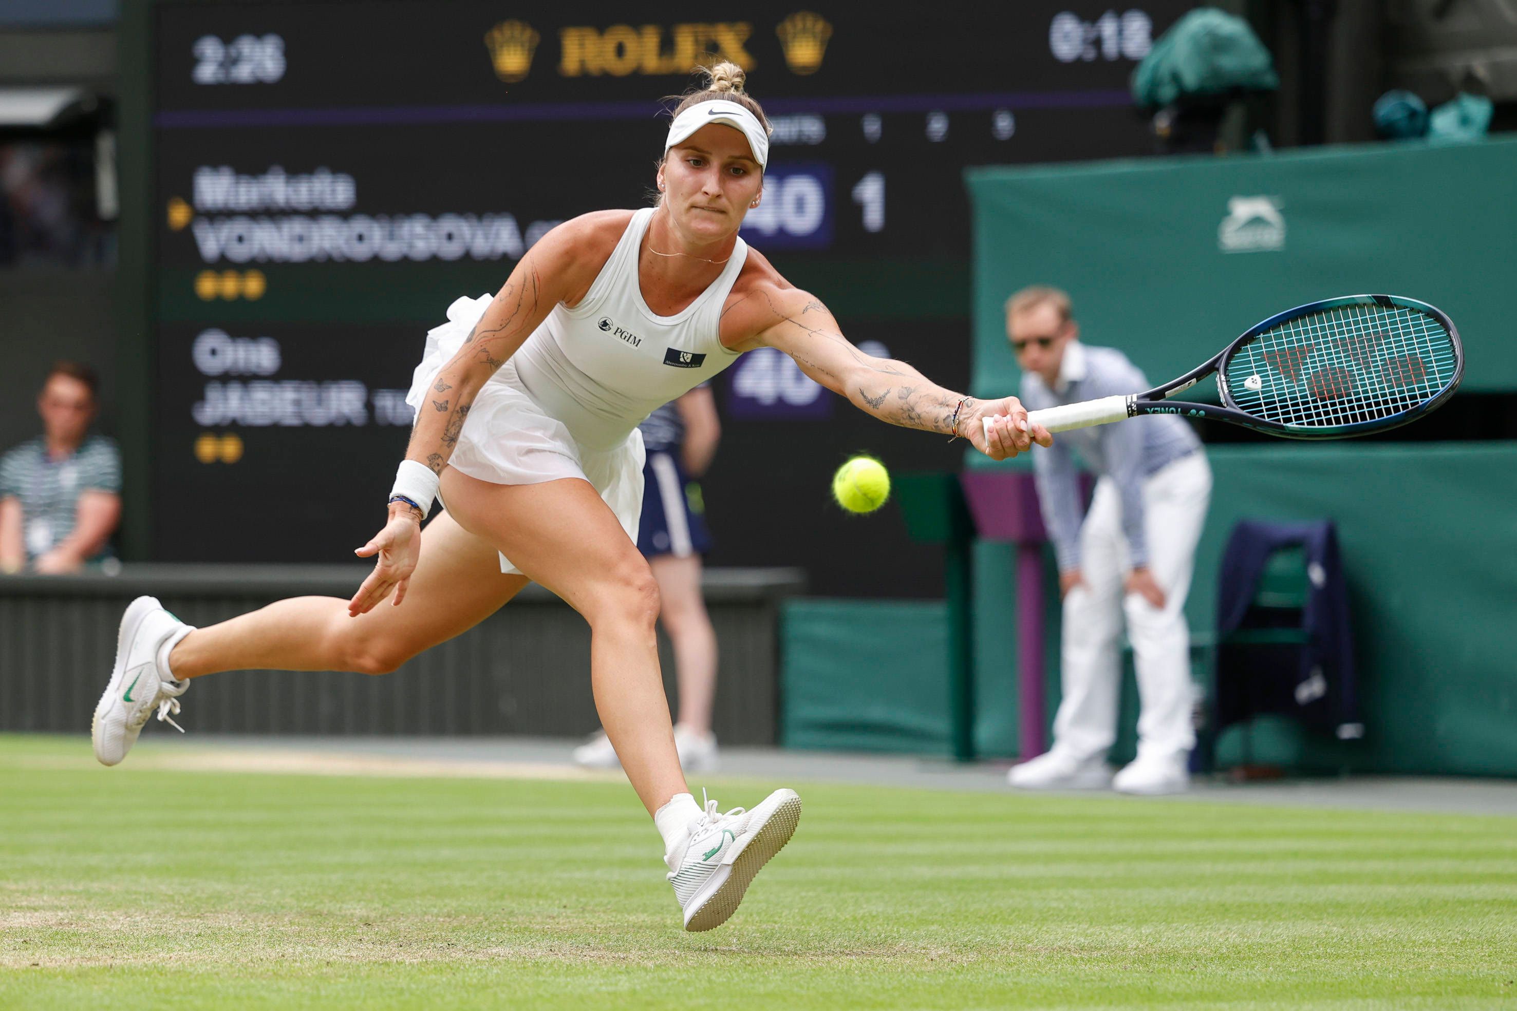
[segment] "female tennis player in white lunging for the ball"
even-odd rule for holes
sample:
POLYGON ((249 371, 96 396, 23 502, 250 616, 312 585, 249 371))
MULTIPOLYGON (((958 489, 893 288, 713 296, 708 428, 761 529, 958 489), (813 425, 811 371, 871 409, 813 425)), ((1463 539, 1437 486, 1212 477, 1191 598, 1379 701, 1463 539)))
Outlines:
POLYGON ((742 70, 707 73, 669 124, 657 206, 566 221, 493 299, 457 300, 428 335, 388 521, 356 549, 378 561, 352 600, 296 597, 205 629, 152 597, 132 602, 94 714, 102 762, 126 756, 152 709, 179 712, 193 678, 387 673, 534 579, 590 623, 596 709, 663 837, 686 929, 733 914, 795 831, 801 799, 778 790, 718 814, 686 787, 658 673, 658 590, 634 546, 637 423, 740 353, 777 347, 862 411, 968 438, 995 459, 1051 437, 1015 397, 975 400, 859 352, 821 300, 748 249, 737 229, 762 199, 769 124, 742 70), (423 532, 434 497, 444 511, 423 532))

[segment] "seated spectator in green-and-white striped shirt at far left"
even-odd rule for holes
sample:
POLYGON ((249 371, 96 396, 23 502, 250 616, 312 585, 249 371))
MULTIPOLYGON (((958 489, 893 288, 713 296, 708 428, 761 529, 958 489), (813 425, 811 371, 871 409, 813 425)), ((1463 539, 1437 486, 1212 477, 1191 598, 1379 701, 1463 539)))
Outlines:
POLYGON ((42 435, 0 456, 0 571, 77 571, 111 556, 121 518, 121 458, 90 435, 99 382, 58 362, 42 382, 42 435))

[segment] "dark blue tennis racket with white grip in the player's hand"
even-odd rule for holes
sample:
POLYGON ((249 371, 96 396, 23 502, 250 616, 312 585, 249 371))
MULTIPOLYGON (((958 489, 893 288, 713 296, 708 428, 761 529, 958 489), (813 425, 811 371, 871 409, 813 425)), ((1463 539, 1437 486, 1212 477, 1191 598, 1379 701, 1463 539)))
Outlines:
MULTIPOLYGON (((1438 408, 1464 376, 1453 320, 1426 302, 1347 296, 1296 306, 1247 330, 1209 362, 1145 393, 1032 411, 1050 432, 1141 414, 1232 421, 1285 438, 1349 438, 1438 408), (1221 406, 1170 400, 1217 373, 1221 406)), ((991 420, 985 418, 986 440, 991 420)))

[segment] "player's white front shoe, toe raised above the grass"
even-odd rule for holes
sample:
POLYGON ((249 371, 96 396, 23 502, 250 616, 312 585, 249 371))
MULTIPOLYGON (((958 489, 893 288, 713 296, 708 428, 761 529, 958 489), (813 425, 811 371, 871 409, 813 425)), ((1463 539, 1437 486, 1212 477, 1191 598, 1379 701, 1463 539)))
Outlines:
POLYGON ((705 811, 690 823, 690 835, 664 856, 669 884, 684 909, 684 929, 710 931, 727 923, 743 893, 769 858, 790 841, 801 820, 801 797, 775 790, 752 811, 705 811))

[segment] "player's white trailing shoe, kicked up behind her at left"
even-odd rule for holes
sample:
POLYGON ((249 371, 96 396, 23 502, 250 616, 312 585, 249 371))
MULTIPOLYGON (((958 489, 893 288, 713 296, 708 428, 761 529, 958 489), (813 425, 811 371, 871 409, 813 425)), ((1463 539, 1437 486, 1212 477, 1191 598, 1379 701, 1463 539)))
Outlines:
POLYGON ((100 696, 90 726, 96 758, 102 764, 115 765, 126 758, 153 709, 158 709, 159 720, 184 734, 170 714, 179 712, 179 696, 190 688, 190 682, 174 681, 164 661, 174 644, 193 631, 193 626, 164 611, 156 597, 138 597, 126 608, 115 640, 111 684, 100 696))

